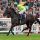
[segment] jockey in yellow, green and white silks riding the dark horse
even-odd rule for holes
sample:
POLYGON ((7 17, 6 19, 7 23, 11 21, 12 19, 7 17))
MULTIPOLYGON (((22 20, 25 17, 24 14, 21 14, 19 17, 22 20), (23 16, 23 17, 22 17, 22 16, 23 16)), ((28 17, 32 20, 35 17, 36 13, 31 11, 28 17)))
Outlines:
POLYGON ((22 5, 22 4, 17 5, 17 8, 18 8, 18 11, 19 11, 19 14, 21 15, 21 17, 22 16, 26 17, 25 13, 28 11, 29 6, 25 5, 25 3, 24 3, 24 5, 22 5))

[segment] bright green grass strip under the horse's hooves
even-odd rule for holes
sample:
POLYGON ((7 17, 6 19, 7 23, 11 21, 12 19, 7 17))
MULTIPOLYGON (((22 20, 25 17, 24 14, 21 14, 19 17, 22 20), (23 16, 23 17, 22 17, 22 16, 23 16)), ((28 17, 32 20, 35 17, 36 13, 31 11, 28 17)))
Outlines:
POLYGON ((0 34, 0 40, 40 40, 40 34, 25 35, 12 35, 6 36, 6 34, 0 34))

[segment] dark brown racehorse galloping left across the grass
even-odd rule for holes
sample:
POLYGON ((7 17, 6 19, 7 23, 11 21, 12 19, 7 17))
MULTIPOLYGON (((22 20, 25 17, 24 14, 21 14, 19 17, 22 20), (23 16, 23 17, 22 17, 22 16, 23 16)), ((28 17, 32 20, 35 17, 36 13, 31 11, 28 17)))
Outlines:
POLYGON ((10 31, 14 35, 14 32, 12 32, 12 29, 15 26, 26 24, 27 25, 27 28, 24 28, 22 30, 22 32, 24 30, 26 30, 26 29, 29 29, 29 32, 27 34, 27 36, 28 36, 29 33, 31 32, 31 26, 32 26, 32 24, 35 21, 38 21, 39 22, 39 20, 36 17, 34 18, 34 16, 33 15, 30 15, 30 14, 29 15, 26 14, 26 18, 23 18, 23 16, 21 18, 21 16, 15 11, 14 8, 10 8, 10 9, 7 8, 6 11, 5 11, 5 13, 3 14, 3 16, 7 16, 8 18, 11 17, 11 24, 12 25, 11 25, 11 28, 10 28, 10 30, 9 30, 9 32, 8 32, 7 35, 10 34, 10 31))

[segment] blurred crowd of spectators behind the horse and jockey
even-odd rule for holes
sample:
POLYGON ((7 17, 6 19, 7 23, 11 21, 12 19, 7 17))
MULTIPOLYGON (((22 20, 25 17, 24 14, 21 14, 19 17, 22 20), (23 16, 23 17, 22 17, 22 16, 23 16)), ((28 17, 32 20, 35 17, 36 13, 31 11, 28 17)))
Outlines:
POLYGON ((11 7, 16 9, 16 11, 18 11, 19 13, 21 13, 20 11, 23 10, 23 11, 28 12, 29 14, 32 14, 34 16, 37 15, 40 17, 40 1, 38 1, 38 0, 35 0, 35 1, 34 0, 31 0, 31 1, 23 0, 23 2, 24 2, 24 6, 26 5, 25 6, 26 8, 24 8, 24 6, 22 6, 22 8, 21 8, 21 6, 19 6, 21 9, 18 10, 17 5, 19 5, 21 3, 20 0, 14 0, 14 1, 13 0, 8 0, 8 1, 0 0, 0 18, 4 17, 3 14, 4 14, 6 8, 10 6, 10 3, 11 3, 11 7))

